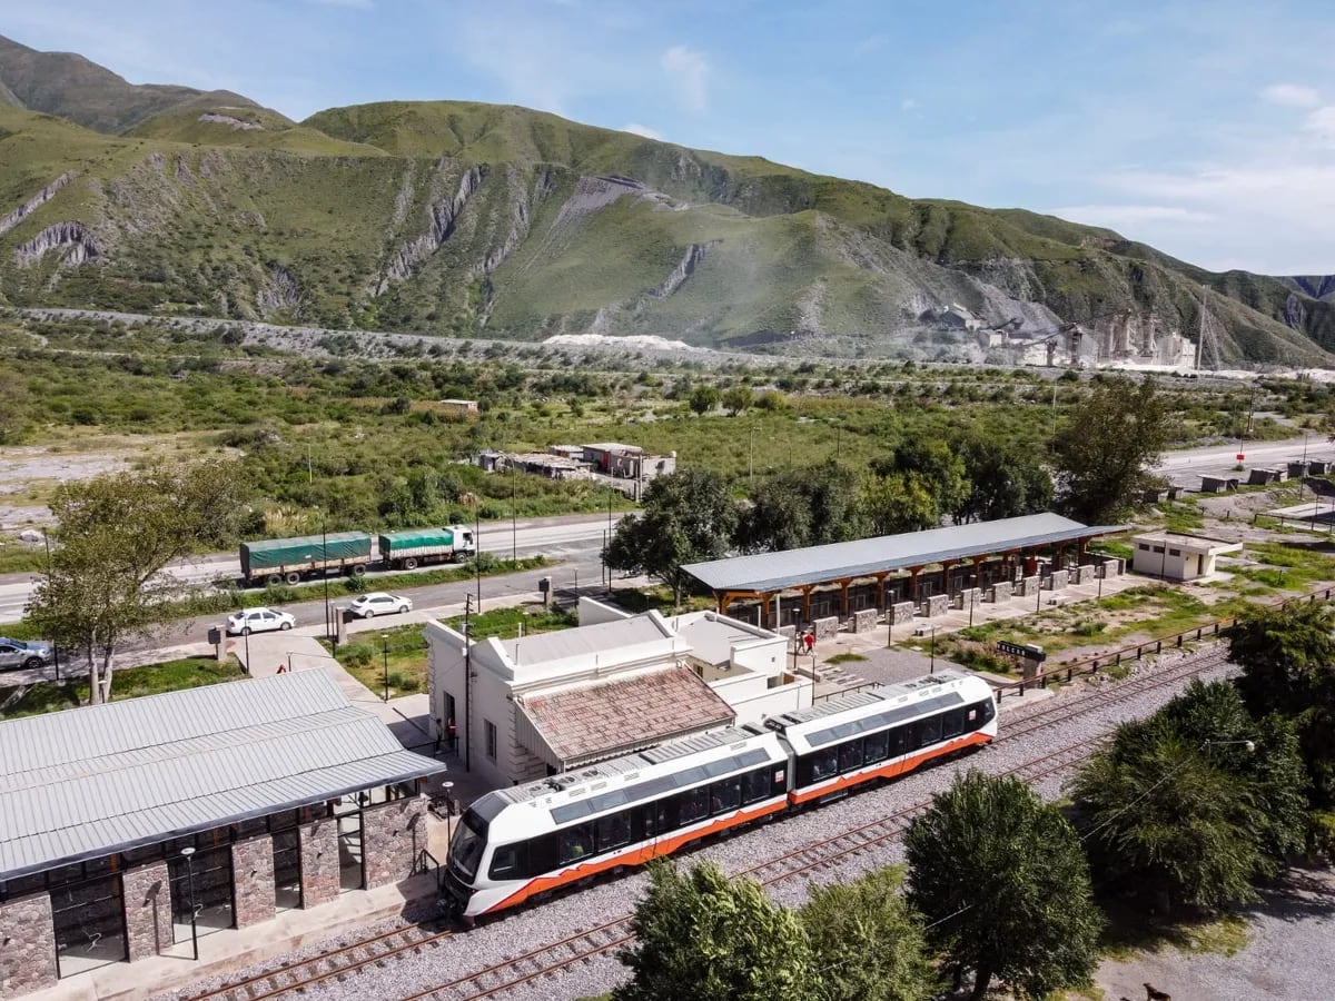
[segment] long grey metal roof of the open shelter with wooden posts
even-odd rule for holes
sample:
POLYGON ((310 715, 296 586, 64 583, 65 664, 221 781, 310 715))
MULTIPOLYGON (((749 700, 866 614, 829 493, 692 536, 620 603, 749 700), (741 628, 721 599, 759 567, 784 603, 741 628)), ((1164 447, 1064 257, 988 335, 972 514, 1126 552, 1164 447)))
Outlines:
POLYGON ((1124 525, 1088 527, 1056 514, 1029 514, 1021 518, 834 542, 782 553, 686 563, 682 570, 714 591, 778 591, 796 585, 816 585, 926 566, 940 563, 943 559, 967 559, 1005 550, 1108 535, 1125 527, 1124 525))

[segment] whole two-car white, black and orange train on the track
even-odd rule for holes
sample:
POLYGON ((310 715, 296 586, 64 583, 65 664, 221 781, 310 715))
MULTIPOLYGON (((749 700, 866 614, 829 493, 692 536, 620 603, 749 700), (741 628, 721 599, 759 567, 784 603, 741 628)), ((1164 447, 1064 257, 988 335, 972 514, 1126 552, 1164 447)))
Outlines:
POLYGON ((992 687, 943 670, 482 795, 445 905, 465 924, 996 739, 992 687))

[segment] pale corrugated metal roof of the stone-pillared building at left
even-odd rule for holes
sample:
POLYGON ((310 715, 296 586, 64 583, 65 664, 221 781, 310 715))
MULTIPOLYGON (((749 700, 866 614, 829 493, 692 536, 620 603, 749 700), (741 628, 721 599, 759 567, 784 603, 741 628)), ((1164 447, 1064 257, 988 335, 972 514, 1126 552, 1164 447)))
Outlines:
POLYGON ((0 722, 0 880, 443 771, 322 670, 0 722))

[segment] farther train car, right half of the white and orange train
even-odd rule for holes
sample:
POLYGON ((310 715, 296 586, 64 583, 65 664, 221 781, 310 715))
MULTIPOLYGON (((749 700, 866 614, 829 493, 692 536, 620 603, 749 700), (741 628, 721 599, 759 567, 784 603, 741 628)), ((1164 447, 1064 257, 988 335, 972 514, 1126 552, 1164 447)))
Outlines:
POLYGON ((996 738, 992 687, 972 674, 933 675, 850 693, 765 725, 796 755, 794 806, 841 795, 862 783, 897 778, 996 738))

